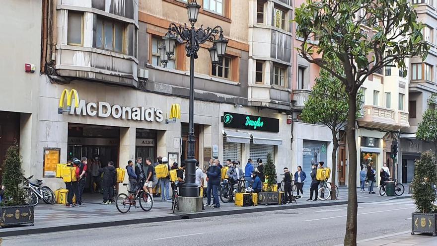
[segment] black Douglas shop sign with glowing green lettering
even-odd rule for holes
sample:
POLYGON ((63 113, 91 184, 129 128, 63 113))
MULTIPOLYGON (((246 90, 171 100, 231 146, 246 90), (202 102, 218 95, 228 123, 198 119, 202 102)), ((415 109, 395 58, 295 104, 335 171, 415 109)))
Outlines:
POLYGON ((221 121, 229 128, 279 132, 279 119, 275 118, 224 112, 221 121))

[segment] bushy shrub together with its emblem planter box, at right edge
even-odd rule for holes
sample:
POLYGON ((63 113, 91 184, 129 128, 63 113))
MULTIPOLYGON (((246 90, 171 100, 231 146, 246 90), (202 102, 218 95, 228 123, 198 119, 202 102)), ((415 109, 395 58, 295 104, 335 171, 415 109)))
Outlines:
POLYGON ((437 236, 437 206, 434 185, 437 184, 436 157, 432 151, 422 153, 416 161, 412 198, 417 212, 411 216, 411 234, 431 233, 437 236))

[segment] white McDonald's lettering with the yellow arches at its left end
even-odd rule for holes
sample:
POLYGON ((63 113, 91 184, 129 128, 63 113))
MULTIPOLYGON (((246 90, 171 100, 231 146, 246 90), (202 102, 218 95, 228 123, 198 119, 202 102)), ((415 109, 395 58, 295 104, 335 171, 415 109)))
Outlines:
MULTIPOLYGON (((75 91, 75 90, 74 90, 75 91)), ((78 99, 77 92, 64 90, 59 102, 59 113, 68 112, 69 114, 83 115, 83 116, 97 116, 106 118, 112 116, 116 119, 128 119, 138 121, 157 121, 162 122, 164 119, 163 112, 157 108, 141 107, 124 107, 117 104, 111 105, 107 102, 85 102, 85 100, 78 99), (73 93, 72 93, 73 92, 73 93), (67 110, 63 110, 65 93, 67 97, 67 110), (73 96, 70 96, 73 95, 73 96), (76 103, 76 98, 79 101, 76 103), (74 105, 71 107, 71 105, 74 105)))

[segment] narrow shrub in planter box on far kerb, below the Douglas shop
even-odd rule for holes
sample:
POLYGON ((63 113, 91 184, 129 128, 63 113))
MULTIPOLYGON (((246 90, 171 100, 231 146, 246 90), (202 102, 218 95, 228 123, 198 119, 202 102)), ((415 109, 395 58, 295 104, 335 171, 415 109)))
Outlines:
POLYGON ((277 191, 276 166, 273 164, 272 153, 267 154, 267 162, 264 165, 266 176, 265 190, 258 193, 258 205, 279 204, 279 192, 277 191))

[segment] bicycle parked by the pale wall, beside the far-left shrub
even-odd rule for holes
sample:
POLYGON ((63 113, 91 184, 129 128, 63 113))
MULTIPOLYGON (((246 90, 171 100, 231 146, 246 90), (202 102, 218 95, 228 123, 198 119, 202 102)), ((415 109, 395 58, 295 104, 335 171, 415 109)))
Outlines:
POLYGON ((24 178, 24 184, 27 185, 25 187, 25 189, 27 190, 27 194, 25 197, 26 204, 36 206, 40 199, 43 200, 46 204, 55 204, 55 193, 53 193, 53 191, 49 187, 41 186, 43 184, 43 180, 41 179, 37 179, 36 184, 30 182, 30 179, 32 177, 33 175, 28 178, 24 178))

